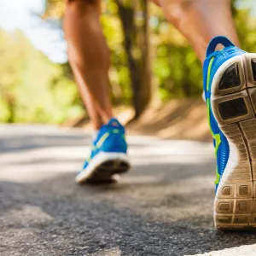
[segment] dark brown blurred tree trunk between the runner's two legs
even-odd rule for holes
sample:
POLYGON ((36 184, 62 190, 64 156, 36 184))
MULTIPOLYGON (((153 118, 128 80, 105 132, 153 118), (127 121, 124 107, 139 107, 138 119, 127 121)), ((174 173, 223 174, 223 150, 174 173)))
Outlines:
POLYGON ((119 17, 122 23, 125 36, 125 51, 131 74, 132 102, 135 109, 135 119, 137 119, 148 107, 151 99, 149 65, 149 44, 148 44, 148 2, 140 3, 143 12, 143 27, 139 32, 135 22, 137 12, 136 4, 125 4, 122 0, 115 0, 119 8, 119 17), (133 55, 139 52, 139 57, 133 55))

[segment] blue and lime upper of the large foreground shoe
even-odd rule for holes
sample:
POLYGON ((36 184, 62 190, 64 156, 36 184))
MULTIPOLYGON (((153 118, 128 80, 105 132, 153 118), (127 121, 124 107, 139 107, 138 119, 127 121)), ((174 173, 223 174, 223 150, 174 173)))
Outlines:
POLYGON ((204 96, 207 102, 207 115, 212 131, 213 145, 215 148, 215 154, 217 157, 217 169, 216 169, 216 190, 218 189, 218 183, 224 173, 225 166, 230 156, 230 146, 224 136, 224 133, 219 129, 218 122, 214 118, 211 107, 211 90, 212 79, 214 74, 218 71, 218 68, 228 61, 230 58, 236 55, 242 55, 245 51, 237 48, 228 38, 219 36, 212 38, 212 41, 207 48, 207 56, 203 65, 203 84, 204 84, 204 96), (215 50, 218 44, 223 44, 224 49, 215 50))

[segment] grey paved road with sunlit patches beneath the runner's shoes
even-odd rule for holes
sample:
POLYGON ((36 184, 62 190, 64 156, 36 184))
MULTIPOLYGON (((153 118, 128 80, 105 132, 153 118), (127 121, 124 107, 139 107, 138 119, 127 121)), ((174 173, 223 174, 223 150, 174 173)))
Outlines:
POLYGON ((0 255, 256 255, 256 233, 212 226, 212 143, 129 141, 127 176, 78 186, 89 133, 1 126, 0 255))

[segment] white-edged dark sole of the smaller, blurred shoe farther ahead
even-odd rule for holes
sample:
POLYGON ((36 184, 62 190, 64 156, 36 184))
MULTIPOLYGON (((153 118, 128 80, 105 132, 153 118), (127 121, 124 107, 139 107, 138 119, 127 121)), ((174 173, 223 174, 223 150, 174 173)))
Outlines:
POLYGON ((111 183, 115 175, 128 172, 130 160, 126 154, 100 152, 90 165, 76 177, 77 183, 111 183))

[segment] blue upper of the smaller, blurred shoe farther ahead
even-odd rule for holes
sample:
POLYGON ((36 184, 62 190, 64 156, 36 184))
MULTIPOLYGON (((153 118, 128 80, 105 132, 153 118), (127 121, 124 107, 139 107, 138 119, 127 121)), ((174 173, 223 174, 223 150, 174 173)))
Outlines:
POLYGON ((96 154, 127 153, 125 127, 117 119, 110 119, 107 125, 102 125, 91 146, 90 158, 85 161, 83 170, 90 164, 96 154))

